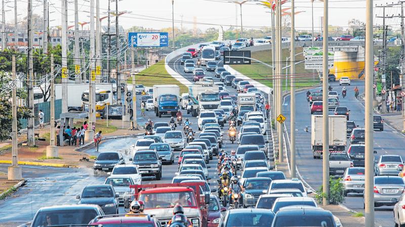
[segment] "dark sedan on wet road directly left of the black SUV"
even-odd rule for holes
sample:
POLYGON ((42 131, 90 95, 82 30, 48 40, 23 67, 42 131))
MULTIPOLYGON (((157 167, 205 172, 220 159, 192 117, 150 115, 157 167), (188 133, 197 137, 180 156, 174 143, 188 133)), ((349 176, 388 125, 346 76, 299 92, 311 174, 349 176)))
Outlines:
POLYGON ((125 164, 124 156, 117 151, 103 152, 95 159, 93 169, 97 171, 112 171, 115 165, 125 164))

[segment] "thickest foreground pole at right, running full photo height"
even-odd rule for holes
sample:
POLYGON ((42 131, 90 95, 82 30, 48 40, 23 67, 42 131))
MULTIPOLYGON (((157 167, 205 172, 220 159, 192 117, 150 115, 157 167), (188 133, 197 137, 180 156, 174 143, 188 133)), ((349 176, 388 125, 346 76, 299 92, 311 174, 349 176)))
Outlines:
MULTIPOLYGON (((327 30, 327 29, 326 29, 327 30)), ((374 227, 374 147, 373 147, 373 0, 366 1, 365 52, 365 226, 374 227)), ((403 39, 403 36, 402 36, 403 39)), ((384 104, 384 103, 383 103, 384 104)), ((383 107, 383 105, 381 106, 383 107)))

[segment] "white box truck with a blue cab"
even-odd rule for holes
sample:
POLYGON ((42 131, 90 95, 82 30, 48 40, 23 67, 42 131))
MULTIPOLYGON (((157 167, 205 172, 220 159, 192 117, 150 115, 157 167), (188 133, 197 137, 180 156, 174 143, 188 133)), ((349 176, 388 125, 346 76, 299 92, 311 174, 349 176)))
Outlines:
POLYGON ((153 102, 156 117, 161 115, 176 116, 180 109, 180 87, 177 85, 153 85, 153 102))

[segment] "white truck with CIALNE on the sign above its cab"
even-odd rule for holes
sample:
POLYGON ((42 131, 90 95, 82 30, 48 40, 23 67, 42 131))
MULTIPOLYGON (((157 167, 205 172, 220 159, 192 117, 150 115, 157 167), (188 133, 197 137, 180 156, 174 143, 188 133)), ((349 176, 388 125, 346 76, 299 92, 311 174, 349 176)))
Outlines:
POLYGON ((197 117, 200 110, 216 109, 221 102, 219 87, 214 82, 197 81, 188 87, 188 97, 193 102, 192 117, 197 117))

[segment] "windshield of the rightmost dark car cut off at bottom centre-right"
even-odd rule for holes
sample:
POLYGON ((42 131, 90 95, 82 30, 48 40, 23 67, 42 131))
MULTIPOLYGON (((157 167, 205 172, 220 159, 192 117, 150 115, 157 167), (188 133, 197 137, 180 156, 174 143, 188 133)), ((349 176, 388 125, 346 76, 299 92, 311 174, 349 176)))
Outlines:
POLYGON ((334 220, 331 216, 326 215, 281 215, 274 220, 273 226, 335 226, 334 220))

